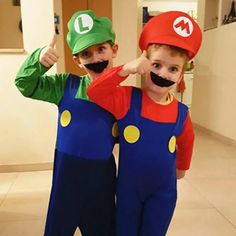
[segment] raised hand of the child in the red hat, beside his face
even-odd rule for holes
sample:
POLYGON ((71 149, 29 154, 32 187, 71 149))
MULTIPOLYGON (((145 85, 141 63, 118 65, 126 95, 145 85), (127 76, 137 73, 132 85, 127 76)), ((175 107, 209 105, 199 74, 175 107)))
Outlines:
POLYGON ((140 74, 143 75, 151 70, 150 62, 147 59, 147 52, 144 50, 142 55, 131 61, 126 63, 122 70, 119 72, 120 76, 127 76, 129 74, 140 74))

